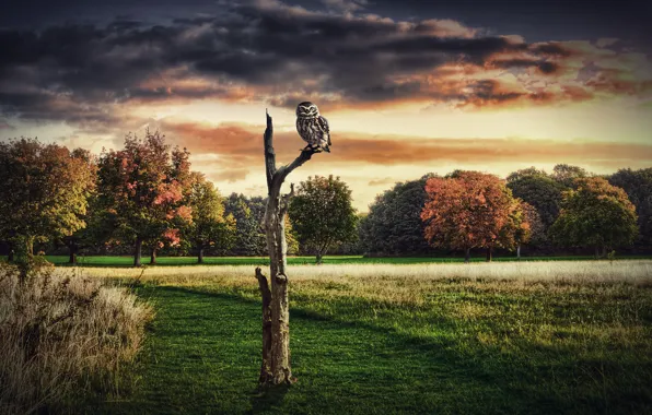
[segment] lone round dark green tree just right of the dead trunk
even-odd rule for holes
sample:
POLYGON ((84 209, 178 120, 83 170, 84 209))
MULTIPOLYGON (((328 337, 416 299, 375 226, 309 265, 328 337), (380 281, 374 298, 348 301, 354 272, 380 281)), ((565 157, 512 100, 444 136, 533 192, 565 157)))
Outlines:
POLYGON ((289 214, 299 244, 316 254, 317 263, 328 249, 357 237, 351 191, 339 177, 315 176, 302 181, 289 214))

